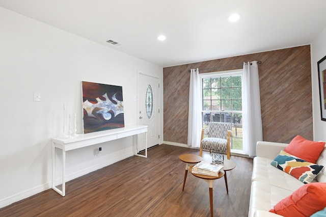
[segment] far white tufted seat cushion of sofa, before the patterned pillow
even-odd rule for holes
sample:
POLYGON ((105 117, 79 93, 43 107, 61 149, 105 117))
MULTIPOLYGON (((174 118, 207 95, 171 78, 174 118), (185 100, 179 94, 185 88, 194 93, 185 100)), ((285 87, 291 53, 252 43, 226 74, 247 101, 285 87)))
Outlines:
MULTIPOLYGON (((290 174, 270 165, 270 161, 265 157, 255 157, 253 164, 252 181, 260 181, 294 192, 297 188, 304 185, 290 174)), ((266 210, 267 211, 267 210, 266 210)))

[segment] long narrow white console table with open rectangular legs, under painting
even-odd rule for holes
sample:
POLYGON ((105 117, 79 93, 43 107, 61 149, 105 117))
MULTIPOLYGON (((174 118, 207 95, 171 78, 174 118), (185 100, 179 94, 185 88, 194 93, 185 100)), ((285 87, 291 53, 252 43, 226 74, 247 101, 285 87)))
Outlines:
POLYGON ((66 151, 70 151, 77 148, 83 148, 86 146, 95 145, 107 141, 117 140, 124 137, 133 135, 134 151, 135 155, 141 157, 147 157, 147 126, 146 125, 132 125, 125 126, 123 128, 110 129, 99 132, 91 132, 86 134, 78 134, 74 138, 52 138, 52 189, 58 192, 63 197, 66 195, 66 151), (145 155, 138 154, 137 149, 137 134, 145 133, 145 155), (56 177, 56 148, 62 150, 62 191, 55 186, 56 177))

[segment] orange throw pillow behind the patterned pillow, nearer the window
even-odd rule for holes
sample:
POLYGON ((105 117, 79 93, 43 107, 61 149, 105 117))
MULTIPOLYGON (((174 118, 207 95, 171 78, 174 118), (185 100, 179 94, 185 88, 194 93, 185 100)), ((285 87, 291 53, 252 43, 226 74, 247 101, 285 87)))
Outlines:
POLYGON ((314 142, 297 135, 284 151, 315 164, 324 147, 325 142, 314 142))

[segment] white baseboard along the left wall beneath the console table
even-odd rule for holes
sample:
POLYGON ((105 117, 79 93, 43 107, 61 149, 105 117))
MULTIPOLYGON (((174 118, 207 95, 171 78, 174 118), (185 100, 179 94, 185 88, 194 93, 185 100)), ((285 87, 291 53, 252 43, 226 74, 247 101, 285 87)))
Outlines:
MULTIPOLYGON (((112 165, 115 162, 118 162, 120 160, 123 160, 123 159, 125 159, 127 157, 130 157, 132 155, 134 155, 134 153, 133 152, 129 152, 129 153, 124 154, 124 155, 121 155, 119 157, 116 157, 116 158, 113 158, 113 159, 110 159, 110 160, 106 160, 104 162, 101 162, 101 164, 94 165, 94 166, 89 167, 89 168, 86 168, 84 170, 80 170, 80 171, 77 171, 75 173, 66 175, 66 181, 70 181, 72 179, 75 179, 75 178, 78 178, 80 176, 84 176, 84 175, 86 175, 88 173, 91 173, 91 172, 94 172, 96 170, 99 170, 99 169, 101 169, 103 167, 106 167, 108 165, 112 165)), ((56 179, 56 183, 61 183, 61 180, 62 180, 62 178, 56 179)), ((31 197, 31 196, 36 195, 38 193, 41 193, 43 191, 46 191, 47 189, 50 189, 51 187, 52 187, 52 183, 51 183, 51 181, 49 181, 47 183, 44 183, 42 185, 33 187, 33 188, 31 188, 29 190, 26 190, 24 192, 15 194, 15 195, 10 196, 8 198, 4 198, 4 199, 0 200, 0 208, 5 207, 5 206, 8 206, 8 205, 10 205, 12 203, 15 203, 17 201, 20 201, 22 199, 31 197)))

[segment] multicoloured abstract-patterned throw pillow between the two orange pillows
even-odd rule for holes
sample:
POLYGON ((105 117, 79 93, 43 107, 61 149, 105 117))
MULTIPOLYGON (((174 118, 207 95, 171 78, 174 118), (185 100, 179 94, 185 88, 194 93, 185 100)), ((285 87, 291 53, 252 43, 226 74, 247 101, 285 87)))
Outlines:
POLYGON ((270 164, 305 184, 312 182, 323 168, 323 166, 307 162, 283 150, 270 164))

